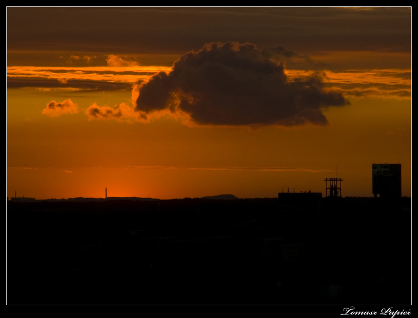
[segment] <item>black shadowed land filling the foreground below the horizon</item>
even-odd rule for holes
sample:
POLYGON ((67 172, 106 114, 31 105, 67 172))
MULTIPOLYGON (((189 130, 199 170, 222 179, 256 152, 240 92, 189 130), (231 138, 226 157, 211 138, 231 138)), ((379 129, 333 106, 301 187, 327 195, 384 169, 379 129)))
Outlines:
POLYGON ((8 304, 410 304, 411 199, 8 202, 8 304))

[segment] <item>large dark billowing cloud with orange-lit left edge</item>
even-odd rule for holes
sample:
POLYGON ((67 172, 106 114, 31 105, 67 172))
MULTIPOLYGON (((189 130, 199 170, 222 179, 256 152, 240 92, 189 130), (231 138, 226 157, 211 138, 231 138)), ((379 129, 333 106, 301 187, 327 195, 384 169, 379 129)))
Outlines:
POLYGON ((347 104, 320 76, 290 82, 283 64, 254 44, 226 42, 186 53, 169 74, 151 77, 140 87, 136 110, 169 109, 202 125, 291 126, 327 124, 322 110, 347 104))

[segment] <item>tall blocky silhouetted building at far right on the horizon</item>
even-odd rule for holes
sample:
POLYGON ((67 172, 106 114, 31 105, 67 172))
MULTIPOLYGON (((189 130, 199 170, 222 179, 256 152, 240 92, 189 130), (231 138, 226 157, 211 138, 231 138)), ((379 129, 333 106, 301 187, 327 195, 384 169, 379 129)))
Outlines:
POLYGON ((383 199, 402 197, 401 164, 373 164, 373 195, 383 199))

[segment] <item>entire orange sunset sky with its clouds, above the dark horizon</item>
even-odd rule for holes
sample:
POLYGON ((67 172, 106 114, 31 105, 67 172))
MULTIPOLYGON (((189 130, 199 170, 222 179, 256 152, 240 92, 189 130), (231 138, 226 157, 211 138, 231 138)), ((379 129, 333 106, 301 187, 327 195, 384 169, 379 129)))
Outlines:
POLYGON ((411 196, 410 7, 8 7, 7 196, 411 196))

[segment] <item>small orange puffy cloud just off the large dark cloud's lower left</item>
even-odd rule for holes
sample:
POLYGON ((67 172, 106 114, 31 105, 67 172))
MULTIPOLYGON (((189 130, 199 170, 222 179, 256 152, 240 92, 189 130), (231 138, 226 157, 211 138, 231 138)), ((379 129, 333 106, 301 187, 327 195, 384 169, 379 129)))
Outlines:
POLYGON ((125 103, 121 103, 119 105, 116 105, 115 107, 98 106, 96 103, 93 103, 85 111, 85 114, 89 117, 89 120, 114 119, 118 121, 127 122, 145 120, 144 115, 142 115, 140 112, 135 112, 135 110, 132 107, 126 105, 125 103))

